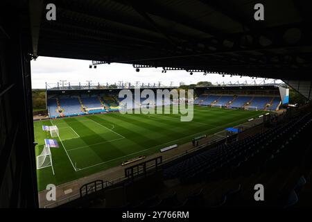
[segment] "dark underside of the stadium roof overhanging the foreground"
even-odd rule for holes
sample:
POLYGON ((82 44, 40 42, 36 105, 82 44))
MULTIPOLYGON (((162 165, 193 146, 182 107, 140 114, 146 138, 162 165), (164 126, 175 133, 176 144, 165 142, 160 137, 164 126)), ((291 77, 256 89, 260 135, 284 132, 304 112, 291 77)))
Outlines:
POLYGON ((35 56, 312 78, 312 1, 31 1, 35 56), (56 21, 46 20, 55 3, 56 21), (254 20, 263 3, 264 21, 254 20))

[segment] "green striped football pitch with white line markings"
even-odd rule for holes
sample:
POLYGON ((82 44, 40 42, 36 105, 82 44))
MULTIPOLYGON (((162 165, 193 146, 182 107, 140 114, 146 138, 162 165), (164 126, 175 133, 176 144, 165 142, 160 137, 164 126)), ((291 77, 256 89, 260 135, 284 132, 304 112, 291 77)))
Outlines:
POLYGON ((237 126, 267 111, 227 110, 194 106, 193 121, 180 121, 180 114, 94 114, 35 121, 36 155, 51 135, 42 125, 58 126, 59 148, 51 148, 51 167, 37 170, 38 190, 61 185, 92 173, 120 166, 139 155, 159 153, 160 148, 184 144, 202 134, 237 126))

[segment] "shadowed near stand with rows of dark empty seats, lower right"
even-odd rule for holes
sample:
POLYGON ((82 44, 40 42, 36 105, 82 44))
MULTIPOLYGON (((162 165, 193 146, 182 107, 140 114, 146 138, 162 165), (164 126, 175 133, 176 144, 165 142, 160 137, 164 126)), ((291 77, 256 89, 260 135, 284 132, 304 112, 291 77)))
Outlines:
POLYGON ((312 153, 311 145, 297 144, 311 144, 311 130, 312 115, 304 114, 233 144, 184 157, 165 167, 164 178, 179 178, 187 186, 203 184, 207 194, 200 201, 205 207, 293 207, 306 184, 301 174, 306 169, 298 166, 312 153), (254 201, 253 186, 259 182, 266 185, 265 203, 254 201))

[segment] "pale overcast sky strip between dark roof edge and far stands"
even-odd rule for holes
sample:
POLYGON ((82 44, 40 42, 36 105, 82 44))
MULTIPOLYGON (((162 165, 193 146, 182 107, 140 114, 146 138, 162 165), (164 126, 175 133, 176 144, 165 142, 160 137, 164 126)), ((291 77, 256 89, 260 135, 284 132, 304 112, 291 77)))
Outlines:
MULTIPOLYGON (((97 69, 89 69, 91 61, 89 60, 72 60, 64 58, 51 58, 51 57, 38 57, 36 61, 31 61, 32 71, 32 87, 33 89, 43 89, 45 83, 51 87, 57 85, 60 80, 67 80, 71 85, 87 84, 87 80, 92 80, 92 84, 113 84, 123 81, 123 83, 135 84, 136 81, 148 84, 158 83, 161 81, 162 85, 180 85, 183 82, 187 85, 198 83, 199 81, 210 81, 211 83, 221 83, 225 81, 232 83, 239 80, 245 80, 248 83, 253 81, 252 78, 240 78, 239 76, 222 77, 219 74, 207 74, 203 76, 202 73, 194 73, 193 76, 189 75, 187 71, 167 71, 166 74, 162 73, 162 68, 146 68, 140 69, 139 72, 135 71, 132 65, 125 65, 119 63, 112 63, 110 65, 98 65, 97 69)), ((263 79, 257 79, 257 83, 261 83, 263 79)), ((266 80, 270 83, 272 80, 266 80)))

